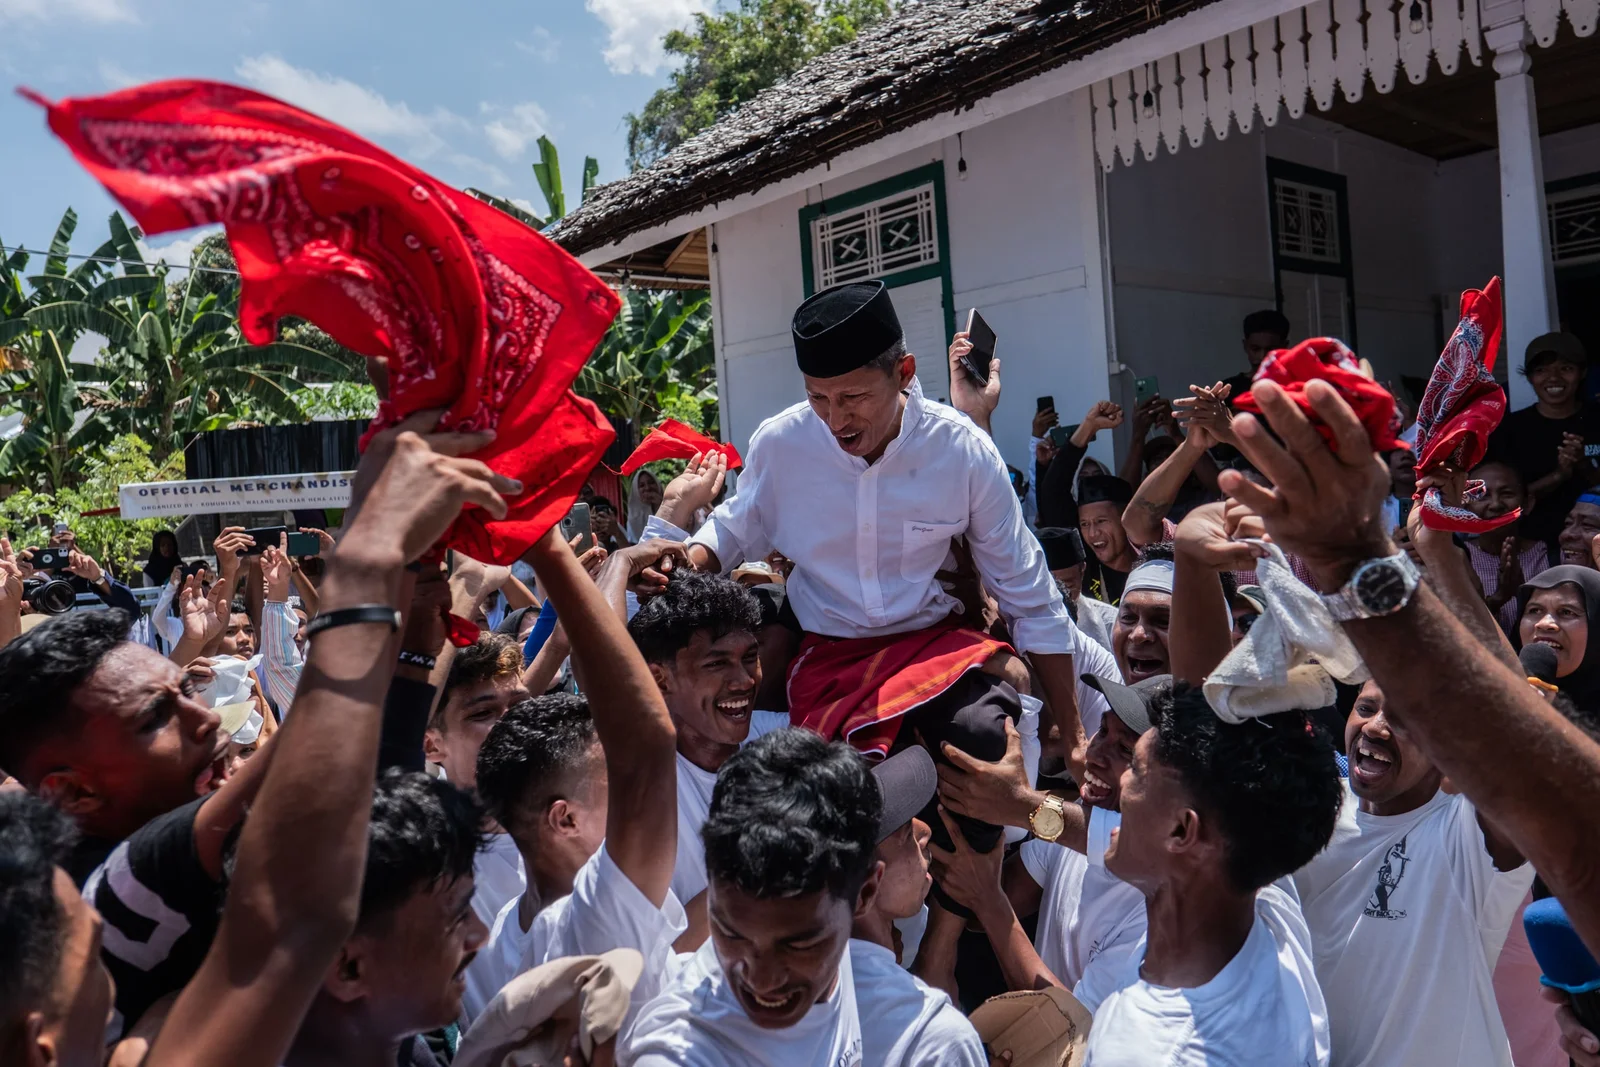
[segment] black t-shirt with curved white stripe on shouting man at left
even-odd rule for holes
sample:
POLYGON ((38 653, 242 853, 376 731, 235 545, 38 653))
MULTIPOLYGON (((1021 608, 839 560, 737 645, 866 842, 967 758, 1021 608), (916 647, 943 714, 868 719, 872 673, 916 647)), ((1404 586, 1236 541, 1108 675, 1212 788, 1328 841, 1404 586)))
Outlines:
POLYGON ((85 896, 106 920, 101 958, 117 981, 118 1035, 182 989, 211 949, 224 889, 195 854, 197 797, 112 849, 85 896))

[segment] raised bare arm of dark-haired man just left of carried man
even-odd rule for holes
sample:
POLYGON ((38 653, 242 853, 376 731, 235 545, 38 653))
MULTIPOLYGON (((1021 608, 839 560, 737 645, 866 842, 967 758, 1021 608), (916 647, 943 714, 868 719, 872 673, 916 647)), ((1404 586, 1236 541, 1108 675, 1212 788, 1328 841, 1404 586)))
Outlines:
POLYGON ((646 569, 654 573, 662 557, 682 555, 682 547, 658 541, 624 549, 606 560, 600 587, 555 531, 525 557, 586 667, 589 710, 606 761, 606 851, 656 907, 667 899, 678 853, 677 736, 645 657, 602 587, 614 592, 646 569))

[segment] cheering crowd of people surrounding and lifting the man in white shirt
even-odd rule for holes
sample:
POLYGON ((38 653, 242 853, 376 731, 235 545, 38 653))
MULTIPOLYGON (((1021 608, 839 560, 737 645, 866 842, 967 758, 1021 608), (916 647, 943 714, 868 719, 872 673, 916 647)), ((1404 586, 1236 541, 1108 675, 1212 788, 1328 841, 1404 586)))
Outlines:
POLYGON ((581 553, 437 552, 523 491, 437 411, 314 568, 160 534, 144 613, 0 541, 0 1062, 1600 1065, 1520 921, 1600 949, 1582 346, 1419 478, 1288 339, 1008 466, 1000 362, 928 400, 853 283, 734 491, 642 470, 581 553))

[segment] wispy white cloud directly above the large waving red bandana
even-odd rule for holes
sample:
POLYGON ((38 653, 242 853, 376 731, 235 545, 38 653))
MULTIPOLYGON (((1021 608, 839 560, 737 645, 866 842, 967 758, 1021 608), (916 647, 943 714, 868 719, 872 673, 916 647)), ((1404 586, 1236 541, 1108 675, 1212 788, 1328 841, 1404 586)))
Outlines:
POLYGON ((235 74, 262 93, 419 158, 437 155, 446 147, 442 131, 467 125, 443 107, 414 112, 403 101, 389 101, 365 85, 306 70, 274 54, 246 56, 238 61, 235 74))

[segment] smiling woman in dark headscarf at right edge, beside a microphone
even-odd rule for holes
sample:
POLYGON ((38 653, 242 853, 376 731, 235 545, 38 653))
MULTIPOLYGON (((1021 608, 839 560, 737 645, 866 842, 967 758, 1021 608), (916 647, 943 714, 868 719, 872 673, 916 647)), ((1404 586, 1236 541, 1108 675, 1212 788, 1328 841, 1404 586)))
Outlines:
POLYGON ((1579 712, 1600 712, 1600 571, 1552 566, 1522 587, 1518 646, 1555 651, 1555 686, 1579 712))

